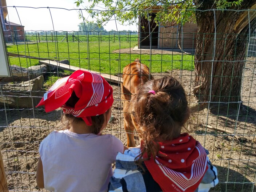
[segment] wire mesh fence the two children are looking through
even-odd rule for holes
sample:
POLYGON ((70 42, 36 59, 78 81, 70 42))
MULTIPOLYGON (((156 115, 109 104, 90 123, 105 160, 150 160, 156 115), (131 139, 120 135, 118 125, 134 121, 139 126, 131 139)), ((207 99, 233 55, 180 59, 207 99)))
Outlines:
MULTIPOLYGON (((23 9, 35 8, 19 7, 19 11, 23 9)), ((49 9, 51 13, 61 8, 37 9, 49 14, 49 9)), ((68 14, 74 10, 63 11, 68 14)), ((215 15, 216 10, 207 11, 215 15)), ((249 15, 255 10, 243 12, 249 15)), ((231 14, 234 13, 238 12, 233 10, 231 14)), ((251 19, 250 16, 245 18, 251 19)), ((193 112, 185 128, 208 149, 209 159, 219 173, 219 184, 211 191, 254 190, 256 52, 253 28, 241 40, 238 34, 223 33, 216 20, 208 24, 209 28, 215 28, 215 33, 204 34, 198 33, 197 26, 189 22, 175 27, 157 27, 145 18, 139 22, 136 32, 118 28, 110 32, 55 31, 54 19, 49 17, 46 22, 53 30, 24 31, 9 25, 5 31, 12 77, 0 78, 0 148, 9 191, 45 191, 37 187, 35 179, 39 144, 57 129, 62 111, 45 113, 35 105, 57 79, 79 68, 105 75, 112 85, 115 101, 111 122, 103 133, 111 133, 127 144, 120 83, 124 66, 136 58, 149 66, 155 78, 173 75, 183 83, 193 112), (235 42, 234 49, 229 46, 231 38, 235 42), (201 49, 200 40, 203 42, 201 49), (223 52, 218 51, 220 47, 225 47, 221 49, 223 52), (244 55, 239 52, 242 47, 244 55), (211 59, 202 57, 204 55, 211 59), (202 72, 206 69, 210 71, 208 75, 202 72), (203 85, 205 82, 207 86, 203 85), (219 91, 215 91, 217 88, 219 91), (233 90, 236 97, 232 95, 233 90)), ((22 23, 21 19, 19 26, 23 26, 22 23)), ((135 139, 139 144, 136 133, 135 139)))

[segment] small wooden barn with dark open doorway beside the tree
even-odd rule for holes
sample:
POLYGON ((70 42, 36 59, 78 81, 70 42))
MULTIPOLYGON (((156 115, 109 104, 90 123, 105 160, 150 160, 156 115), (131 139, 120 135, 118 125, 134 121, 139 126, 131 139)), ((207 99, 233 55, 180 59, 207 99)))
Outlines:
MULTIPOLYGON (((152 18, 156 16, 156 13, 151 13, 152 18)), ((191 21, 194 18, 191 18, 191 21)), ((171 22, 157 25, 151 21, 148 21, 145 17, 140 18, 139 24, 139 38, 138 48, 139 49, 168 49, 168 48, 179 48, 182 49, 195 49, 196 47, 196 35, 197 25, 196 23, 185 23, 181 28, 181 34, 178 37, 178 31, 181 27, 180 24, 172 25, 171 22), (149 38, 149 34, 150 38, 149 38)))

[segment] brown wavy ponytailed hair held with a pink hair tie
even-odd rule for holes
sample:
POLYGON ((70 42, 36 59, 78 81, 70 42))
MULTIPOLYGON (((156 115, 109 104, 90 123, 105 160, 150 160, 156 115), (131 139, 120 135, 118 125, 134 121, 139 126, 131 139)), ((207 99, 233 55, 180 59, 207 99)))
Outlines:
POLYGON ((172 76, 163 76, 145 83, 132 99, 133 123, 143 141, 141 154, 136 163, 147 157, 159 155, 157 142, 169 141, 180 136, 190 110, 184 88, 172 76), (155 94, 149 91, 155 91, 155 94))

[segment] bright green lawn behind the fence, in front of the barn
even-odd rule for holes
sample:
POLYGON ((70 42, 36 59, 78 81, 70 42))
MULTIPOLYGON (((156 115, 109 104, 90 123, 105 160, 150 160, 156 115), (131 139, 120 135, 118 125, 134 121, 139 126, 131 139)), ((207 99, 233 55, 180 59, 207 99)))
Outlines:
MULTIPOLYGON (((131 52, 135 46, 134 42, 121 42, 120 48, 130 48, 131 52)), ((139 58, 141 63, 150 67, 151 72, 166 72, 172 69, 193 70, 192 55, 146 55, 146 54, 129 54, 129 53, 113 53, 119 50, 119 42, 57 42, 51 43, 35 43, 25 45, 7 46, 8 52, 19 53, 21 55, 44 57, 49 59, 68 59, 70 64, 76 67, 91 69, 101 73, 117 74, 123 71, 125 65, 139 58)), ((38 60, 25 58, 9 57, 11 65, 19 65, 21 67, 30 67, 38 65, 38 60)))

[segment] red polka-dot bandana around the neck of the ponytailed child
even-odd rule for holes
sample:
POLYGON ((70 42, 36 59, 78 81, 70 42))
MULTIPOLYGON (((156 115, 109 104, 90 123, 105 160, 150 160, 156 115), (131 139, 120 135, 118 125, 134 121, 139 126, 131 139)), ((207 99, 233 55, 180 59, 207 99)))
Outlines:
POLYGON ((153 179, 164 192, 195 191, 208 168, 202 145, 188 133, 159 145, 156 163, 153 158, 144 161, 153 179))

